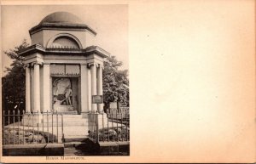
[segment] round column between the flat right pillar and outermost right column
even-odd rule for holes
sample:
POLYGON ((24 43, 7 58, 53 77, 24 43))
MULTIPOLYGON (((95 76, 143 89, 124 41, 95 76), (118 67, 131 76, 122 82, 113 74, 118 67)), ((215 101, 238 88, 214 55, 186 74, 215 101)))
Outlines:
MULTIPOLYGON (((90 65, 90 73, 91 73, 91 95, 96 95, 96 64, 93 63, 90 65)), ((97 110, 97 105, 96 104, 91 104, 91 111, 96 112, 97 110)))

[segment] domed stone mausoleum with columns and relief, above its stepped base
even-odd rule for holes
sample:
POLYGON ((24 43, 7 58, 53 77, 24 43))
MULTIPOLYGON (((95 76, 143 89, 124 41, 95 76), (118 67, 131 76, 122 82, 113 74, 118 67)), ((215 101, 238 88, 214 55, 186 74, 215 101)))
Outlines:
POLYGON ((103 61, 96 31, 74 14, 55 12, 29 30, 32 46, 20 52, 26 65, 26 112, 84 115, 103 112, 103 61))

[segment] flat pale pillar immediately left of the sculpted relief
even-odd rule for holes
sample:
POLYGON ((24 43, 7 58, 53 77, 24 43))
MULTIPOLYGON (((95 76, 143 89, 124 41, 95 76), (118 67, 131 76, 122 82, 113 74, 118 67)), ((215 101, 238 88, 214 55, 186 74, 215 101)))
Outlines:
POLYGON ((43 65, 43 112, 50 111, 49 64, 43 65))

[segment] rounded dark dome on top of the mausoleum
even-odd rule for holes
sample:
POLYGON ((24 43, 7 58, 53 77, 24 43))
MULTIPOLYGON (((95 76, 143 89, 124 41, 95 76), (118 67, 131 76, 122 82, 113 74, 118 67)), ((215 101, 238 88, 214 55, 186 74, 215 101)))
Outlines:
POLYGON ((74 14, 55 12, 44 17, 40 24, 83 24, 83 22, 74 14))

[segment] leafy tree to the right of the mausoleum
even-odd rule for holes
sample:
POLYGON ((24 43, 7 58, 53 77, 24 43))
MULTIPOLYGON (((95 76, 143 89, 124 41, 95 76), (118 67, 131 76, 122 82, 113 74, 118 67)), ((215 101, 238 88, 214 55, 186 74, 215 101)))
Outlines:
POLYGON ((129 80, 128 71, 119 71, 119 66, 123 65, 115 56, 110 56, 104 62, 103 70, 103 101, 105 108, 109 103, 119 100, 121 103, 129 105, 129 80))

